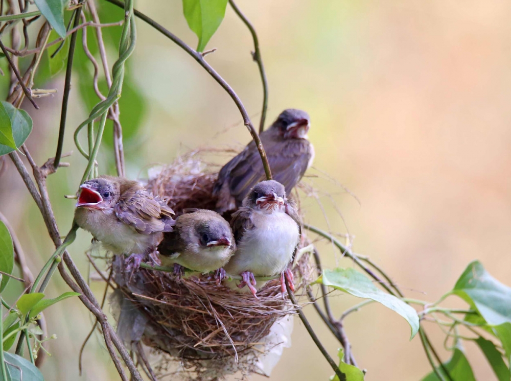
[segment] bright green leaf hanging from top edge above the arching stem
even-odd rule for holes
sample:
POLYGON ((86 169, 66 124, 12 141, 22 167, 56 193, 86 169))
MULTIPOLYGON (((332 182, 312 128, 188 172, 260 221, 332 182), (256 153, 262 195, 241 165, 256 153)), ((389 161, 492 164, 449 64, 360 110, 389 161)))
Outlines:
POLYGON ((183 0, 183 13, 190 29, 199 37, 202 52, 225 16, 227 0, 183 0))

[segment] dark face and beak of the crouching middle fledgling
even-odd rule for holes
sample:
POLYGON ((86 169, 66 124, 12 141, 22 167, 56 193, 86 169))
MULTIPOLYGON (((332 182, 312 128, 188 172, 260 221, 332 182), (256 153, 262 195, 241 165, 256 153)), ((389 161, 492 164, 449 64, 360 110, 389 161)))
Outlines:
MULTIPOLYGON (((217 213, 215 213, 215 215, 216 214, 217 213)), ((212 218, 207 220, 198 221, 195 224, 195 231, 199 237, 199 245, 203 248, 226 249, 235 245, 233 231, 227 221, 220 215, 212 216, 212 218)))

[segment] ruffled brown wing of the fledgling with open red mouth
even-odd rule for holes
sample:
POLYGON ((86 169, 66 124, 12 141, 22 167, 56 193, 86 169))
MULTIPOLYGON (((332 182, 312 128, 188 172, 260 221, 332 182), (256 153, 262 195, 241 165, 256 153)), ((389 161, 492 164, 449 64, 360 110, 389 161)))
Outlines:
POLYGON ((172 231, 173 211, 164 200, 143 189, 125 192, 115 204, 115 216, 142 234, 172 231))

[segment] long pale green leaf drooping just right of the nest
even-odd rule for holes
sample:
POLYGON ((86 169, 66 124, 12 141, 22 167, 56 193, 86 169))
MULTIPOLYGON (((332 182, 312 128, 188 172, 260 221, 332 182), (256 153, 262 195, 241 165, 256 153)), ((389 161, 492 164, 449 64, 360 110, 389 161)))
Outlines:
POLYGON ((401 299, 381 291, 365 275, 355 269, 325 269, 323 275, 315 283, 321 282, 358 298, 372 299, 397 312, 410 324, 410 340, 419 330, 419 316, 413 307, 401 299))

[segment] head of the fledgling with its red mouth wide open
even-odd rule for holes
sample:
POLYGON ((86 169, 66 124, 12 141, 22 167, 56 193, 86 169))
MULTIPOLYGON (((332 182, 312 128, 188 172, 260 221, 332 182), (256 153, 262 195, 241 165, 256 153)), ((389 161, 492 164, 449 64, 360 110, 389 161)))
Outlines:
POLYGON ((80 185, 77 208, 108 209, 119 199, 119 184, 107 178, 85 181, 80 185))

